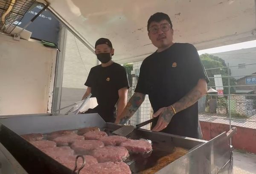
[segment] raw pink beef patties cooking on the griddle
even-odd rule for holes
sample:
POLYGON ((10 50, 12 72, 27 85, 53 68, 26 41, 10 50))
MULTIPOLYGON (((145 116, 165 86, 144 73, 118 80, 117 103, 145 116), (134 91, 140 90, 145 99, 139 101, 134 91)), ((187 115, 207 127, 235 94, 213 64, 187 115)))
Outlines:
POLYGON ((86 164, 81 174, 131 174, 129 166, 123 163, 129 152, 152 151, 151 143, 146 140, 108 136, 96 127, 79 129, 77 134, 70 130, 52 132, 46 135, 47 140, 42 134, 22 137, 71 170, 75 166, 76 154, 84 155, 86 164))

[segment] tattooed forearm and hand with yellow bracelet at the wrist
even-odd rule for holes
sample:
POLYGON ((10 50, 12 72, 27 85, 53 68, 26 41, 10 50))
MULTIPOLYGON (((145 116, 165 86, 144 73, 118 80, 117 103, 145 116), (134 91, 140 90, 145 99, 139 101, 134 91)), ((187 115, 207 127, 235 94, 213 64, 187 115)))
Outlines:
MULTIPOLYGON (((195 104, 195 102, 198 101, 198 99, 201 98, 206 93, 207 93, 206 80, 199 79, 198 84, 183 98, 181 98, 175 104, 172 104, 172 107, 174 107, 174 109, 176 110, 176 113, 180 112, 192 106, 193 104, 195 104)), ((158 115, 160 116, 158 118, 156 126, 154 126, 154 128, 152 129, 153 131, 161 131, 164 128, 166 128, 166 126, 170 123, 174 115, 172 107, 171 106, 163 107, 154 113, 153 117, 157 117, 158 115)))

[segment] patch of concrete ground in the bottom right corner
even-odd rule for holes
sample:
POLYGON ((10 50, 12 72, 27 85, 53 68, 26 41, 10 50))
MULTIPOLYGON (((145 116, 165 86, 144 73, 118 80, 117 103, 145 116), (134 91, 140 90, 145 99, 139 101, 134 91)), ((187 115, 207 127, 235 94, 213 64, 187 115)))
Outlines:
POLYGON ((234 150, 233 161, 233 174, 256 174, 256 154, 234 150))

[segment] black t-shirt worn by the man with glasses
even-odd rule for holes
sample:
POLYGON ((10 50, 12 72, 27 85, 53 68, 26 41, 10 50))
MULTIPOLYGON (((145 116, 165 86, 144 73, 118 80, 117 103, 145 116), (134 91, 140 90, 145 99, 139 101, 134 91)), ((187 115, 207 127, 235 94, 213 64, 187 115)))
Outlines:
MULTIPOLYGON (((148 94, 153 110, 157 112, 184 97, 197 85, 199 79, 209 82, 196 48, 188 43, 175 43, 143 61, 135 92, 148 94)), ((151 128, 156 123, 157 119, 151 128)), ((162 132, 200 138, 198 103, 175 114, 162 132)))

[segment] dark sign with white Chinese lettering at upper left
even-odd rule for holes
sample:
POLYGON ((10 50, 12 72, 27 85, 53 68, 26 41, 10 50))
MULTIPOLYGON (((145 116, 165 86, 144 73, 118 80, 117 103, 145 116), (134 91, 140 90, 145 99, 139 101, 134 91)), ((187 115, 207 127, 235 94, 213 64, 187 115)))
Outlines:
MULTIPOLYGON (((43 8, 44 4, 38 3, 35 8, 26 12, 17 26, 23 28, 43 8)), ((26 30, 32 32, 32 39, 45 40, 58 45, 59 26, 60 23, 58 20, 46 9, 26 28, 26 30)))

